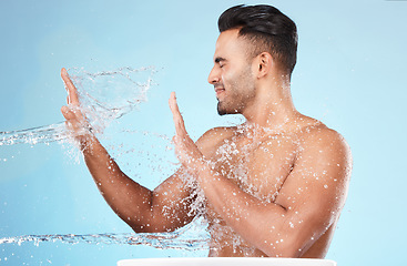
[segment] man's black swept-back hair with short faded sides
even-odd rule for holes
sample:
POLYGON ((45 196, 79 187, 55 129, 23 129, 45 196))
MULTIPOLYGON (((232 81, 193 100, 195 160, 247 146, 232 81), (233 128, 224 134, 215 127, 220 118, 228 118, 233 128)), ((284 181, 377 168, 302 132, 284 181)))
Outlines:
POLYGON ((278 9, 266 6, 236 6, 224 11, 217 25, 220 32, 238 29, 240 37, 253 44, 252 58, 269 52, 288 74, 297 61, 297 27, 278 9))

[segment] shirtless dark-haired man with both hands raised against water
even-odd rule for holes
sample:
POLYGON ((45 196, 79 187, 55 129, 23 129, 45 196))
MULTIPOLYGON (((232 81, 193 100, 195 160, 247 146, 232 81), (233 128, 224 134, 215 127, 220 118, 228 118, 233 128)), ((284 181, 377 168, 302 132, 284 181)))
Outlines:
POLYGON ((189 224, 199 191, 210 256, 323 258, 345 204, 352 157, 337 132, 294 108, 295 23, 269 6, 238 6, 226 10, 218 25, 208 82, 218 113, 240 113, 246 122, 208 130, 193 142, 172 93, 173 142, 182 166, 154 191, 129 178, 85 130, 77 90, 62 69, 67 124, 77 132, 101 194, 135 232, 189 224))

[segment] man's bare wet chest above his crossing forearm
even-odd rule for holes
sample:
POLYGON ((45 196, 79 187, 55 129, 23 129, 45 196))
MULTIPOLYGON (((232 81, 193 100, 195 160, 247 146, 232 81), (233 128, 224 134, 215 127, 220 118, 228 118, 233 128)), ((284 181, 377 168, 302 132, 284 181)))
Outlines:
POLYGON ((294 166, 297 146, 289 136, 268 136, 260 141, 231 137, 217 147, 211 161, 220 174, 243 191, 273 202, 294 166))

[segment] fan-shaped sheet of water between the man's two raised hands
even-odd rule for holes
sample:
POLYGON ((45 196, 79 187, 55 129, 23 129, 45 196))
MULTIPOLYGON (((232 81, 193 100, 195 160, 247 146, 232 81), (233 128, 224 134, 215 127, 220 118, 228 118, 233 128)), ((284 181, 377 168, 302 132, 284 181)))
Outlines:
POLYGON ((146 102, 154 68, 121 68, 114 71, 88 72, 70 69, 70 78, 78 88, 81 108, 92 126, 106 125, 146 102), (144 82, 140 82, 144 80, 144 82))

